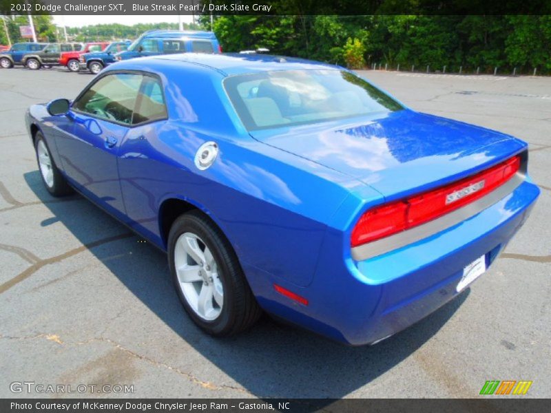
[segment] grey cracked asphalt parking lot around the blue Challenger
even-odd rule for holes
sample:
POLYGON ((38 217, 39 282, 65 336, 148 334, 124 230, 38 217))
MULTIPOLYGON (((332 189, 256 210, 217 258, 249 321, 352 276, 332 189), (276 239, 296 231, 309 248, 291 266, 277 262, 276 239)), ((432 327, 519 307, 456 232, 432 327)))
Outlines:
POLYGON ((92 76, 0 70, 0 397, 44 396, 10 391, 32 381, 134 385, 79 394, 103 397, 470 398, 486 380, 530 380, 523 397, 550 397, 551 78, 362 74, 421 112, 530 142, 541 197, 472 288, 377 346, 349 348, 268 317, 231 339, 200 332, 165 255, 79 195, 43 188, 24 111, 74 98, 92 76))

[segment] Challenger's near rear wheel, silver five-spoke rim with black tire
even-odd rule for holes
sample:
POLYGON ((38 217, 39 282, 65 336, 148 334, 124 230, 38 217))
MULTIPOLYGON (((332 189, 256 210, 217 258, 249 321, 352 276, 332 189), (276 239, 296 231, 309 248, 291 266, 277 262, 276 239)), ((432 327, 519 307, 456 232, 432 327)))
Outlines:
POLYGON ((236 253, 206 215, 181 215, 170 229, 168 244, 178 297, 202 330, 216 337, 234 335, 260 317, 236 253))

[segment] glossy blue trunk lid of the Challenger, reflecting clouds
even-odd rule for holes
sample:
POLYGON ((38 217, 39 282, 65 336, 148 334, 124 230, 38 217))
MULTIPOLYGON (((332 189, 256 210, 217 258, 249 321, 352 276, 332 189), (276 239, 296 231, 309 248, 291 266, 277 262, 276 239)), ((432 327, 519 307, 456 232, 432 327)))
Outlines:
POLYGON ((459 180, 526 147, 512 136, 408 109, 251 136, 361 180, 386 200, 459 180))

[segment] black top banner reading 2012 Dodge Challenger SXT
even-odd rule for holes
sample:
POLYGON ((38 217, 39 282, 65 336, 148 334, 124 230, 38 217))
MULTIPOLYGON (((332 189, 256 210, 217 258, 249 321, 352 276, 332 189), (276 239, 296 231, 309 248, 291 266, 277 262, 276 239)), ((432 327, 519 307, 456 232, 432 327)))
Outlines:
POLYGON ((551 0, 0 0, 1 14, 551 14, 551 0))

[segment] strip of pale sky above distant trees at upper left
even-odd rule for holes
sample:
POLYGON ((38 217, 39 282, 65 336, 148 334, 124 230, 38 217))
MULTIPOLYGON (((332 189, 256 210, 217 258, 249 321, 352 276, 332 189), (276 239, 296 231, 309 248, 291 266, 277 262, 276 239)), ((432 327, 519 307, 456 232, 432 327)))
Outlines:
MULTIPOLYGON (((54 16, 54 23, 56 25, 63 25, 63 21, 65 21, 65 25, 69 27, 77 27, 80 28, 83 25, 94 25, 94 24, 100 24, 100 23, 121 23, 125 25, 133 25, 136 23, 178 23, 178 15, 148 15, 148 16, 133 16, 133 15, 118 15, 118 16, 101 16, 101 15, 87 15, 87 16, 61 16, 59 14, 55 14, 54 16)), ((183 15, 182 21, 183 23, 191 23, 191 16, 183 15)))

